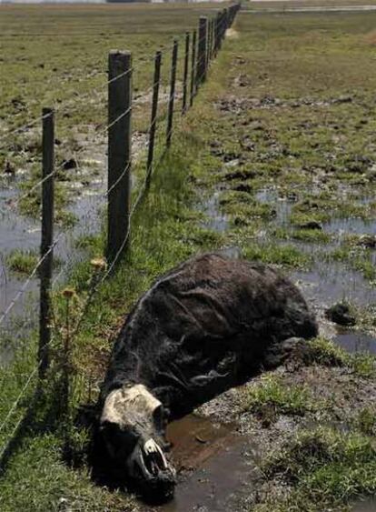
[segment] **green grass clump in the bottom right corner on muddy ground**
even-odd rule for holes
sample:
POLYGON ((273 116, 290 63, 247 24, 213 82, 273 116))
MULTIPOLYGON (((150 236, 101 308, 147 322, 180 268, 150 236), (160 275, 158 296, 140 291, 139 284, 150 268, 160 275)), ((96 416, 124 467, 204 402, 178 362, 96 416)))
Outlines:
POLYGON ((358 432, 303 431, 264 468, 268 477, 282 477, 292 486, 281 508, 286 511, 343 507, 376 491, 374 443, 358 432))

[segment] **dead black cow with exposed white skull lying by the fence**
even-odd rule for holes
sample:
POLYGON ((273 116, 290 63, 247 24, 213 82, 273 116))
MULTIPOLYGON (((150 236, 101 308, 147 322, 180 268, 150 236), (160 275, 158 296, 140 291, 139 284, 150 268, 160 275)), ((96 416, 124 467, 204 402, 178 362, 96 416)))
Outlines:
POLYGON ((297 287, 270 266, 206 254, 174 268, 141 297, 114 344, 100 397, 112 465, 143 491, 172 495, 166 421, 260 372, 283 340, 316 334, 297 287))

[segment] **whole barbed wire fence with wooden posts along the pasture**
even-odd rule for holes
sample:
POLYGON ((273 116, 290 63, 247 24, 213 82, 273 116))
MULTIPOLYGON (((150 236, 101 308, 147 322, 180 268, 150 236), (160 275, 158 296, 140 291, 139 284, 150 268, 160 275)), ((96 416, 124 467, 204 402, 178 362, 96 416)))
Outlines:
MULTIPOLYGON (((67 327, 69 336, 64 336, 61 329, 54 324, 54 287, 64 275, 66 264, 54 276, 54 250, 64 240, 64 232, 54 236, 54 181, 64 164, 55 165, 54 156, 54 130, 56 113, 62 105, 53 108, 44 108, 42 115, 23 126, 12 128, 0 136, 0 143, 5 139, 23 133, 32 126, 42 124, 42 177, 35 185, 19 196, 14 206, 20 204, 26 197, 35 191, 41 190, 42 206, 42 236, 40 257, 33 270, 26 277, 25 282, 16 292, 15 296, 0 313, 0 337, 6 319, 11 315, 17 302, 25 295, 26 290, 35 276, 39 277, 40 302, 33 307, 36 313, 39 308, 39 336, 35 366, 17 378, 22 377, 15 400, 5 408, 4 417, 0 418, 0 467, 2 457, 15 432, 23 421, 22 412, 18 411, 20 403, 32 387, 33 383, 44 381, 51 365, 51 347, 56 340, 64 338, 64 380, 65 401, 69 399, 69 357, 70 347, 67 339, 74 340, 80 331, 87 309, 91 306, 94 296, 100 286, 111 276, 114 268, 123 259, 132 243, 131 231, 133 219, 143 198, 147 195, 153 180, 153 174, 163 163, 164 157, 172 145, 173 132, 177 123, 194 104, 194 98, 200 87, 206 80, 209 66, 213 58, 218 54, 225 37, 226 30, 233 25, 235 15, 240 9, 240 4, 230 5, 216 13, 214 17, 201 16, 197 30, 186 32, 180 38, 175 38, 173 44, 159 49, 153 59, 153 82, 151 85, 151 114, 150 123, 146 130, 147 151, 143 179, 136 189, 132 189, 132 117, 137 103, 134 101, 133 78, 135 66, 132 55, 129 52, 112 51, 109 54, 108 80, 108 120, 104 126, 103 134, 108 138, 108 180, 107 190, 101 197, 101 202, 95 207, 107 209, 107 238, 105 258, 94 262, 94 275, 92 277, 89 292, 80 305, 79 314, 74 320, 74 325, 67 327), (183 43, 183 51, 180 45, 183 43), (171 68, 169 72, 168 93, 164 101, 161 100, 161 68, 165 56, 171 55, 171 68), (182 72, 182 73, 180 73, 182 72), (177 87, 177 77, 182 75, 180 91, 177 87), (179 102, 180 100, 180 102, 179 102), (179 103, 179 104, 178 104, 179 103), (162 108, 163 107, 163 108, 162 108), (163 133, 164 127, 164 133, 163 133), (159 137, 159 138, 158 138, 159 137), (134 194, 133 194, 134 193, 134 194), (134 200, 132 201, 132 196, 134 200), (18 411, 18 412, 17 412, 18 411), (6 434, 5 437, 3 434, 6 434)), ((168 60, 167 60, 168 62, 168 60)), ((66 292, 66 304, 72 296, 66 292)), ((12 333, 12 337, 18 338, 29 324, 29 318, 12 333)), ((65 333, 66 334, 66 333, 65 333)), ((0 369, 1 372, 1 369, 0 369)), ((67 410, 67 405, 65 404, 67 410)), ((64 408, 63 407, 63 408, 64 408)))

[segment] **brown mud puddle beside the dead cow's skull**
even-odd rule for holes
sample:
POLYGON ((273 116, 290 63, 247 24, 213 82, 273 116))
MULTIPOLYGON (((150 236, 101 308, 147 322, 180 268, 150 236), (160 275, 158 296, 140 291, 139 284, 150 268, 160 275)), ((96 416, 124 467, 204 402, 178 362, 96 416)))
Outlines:
MULTIPOLYGON (((167 429, 172 458, 179 472, 173 501, 161 512, 227 512, 249 494, 255 478, 256 447, 233 425, 189 415, 167 429)), ((151 509, 150 509, 151 510, 151 509)))

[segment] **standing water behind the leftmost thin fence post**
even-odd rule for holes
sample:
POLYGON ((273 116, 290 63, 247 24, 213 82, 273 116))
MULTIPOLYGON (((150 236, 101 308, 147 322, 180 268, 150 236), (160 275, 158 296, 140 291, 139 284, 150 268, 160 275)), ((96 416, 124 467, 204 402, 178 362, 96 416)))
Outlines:
MULTIPOLYGON (((41 243, 40 221, 20 216, 12 204, 18 193, 17 181, 0 186, 0 315, 11 306, 9 314, 0 326, 0 364, 10 363, 16 347, 27 338, 30 329, 37 324, 39 279, 37 273, 24 288, 28 276, 12 272, 6 256, 13 250, 30 250, 39 255, 41 243), (25 290, 25 291, 24 291, 25 290), (21 293, 22 292, 22 293, 21 293), (18 297, 13 305, 15 297, 18 297), (11 342, 9 340, 12 340, 11 342)), ((64 236, 54 248, 54 286, 64 282, 74 264, 84 257, 84 252, 75 248, 78 236, 98 233, 101 228, 101 208, 99 199, 104 190, 103 180, 92 180, 89 186, 82 187, 79 195, 67 208, 77 219, 73 228, 64 229, 64 236)), ((61 228, 55 226, 55 238, 61 228)))

